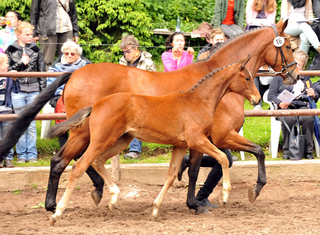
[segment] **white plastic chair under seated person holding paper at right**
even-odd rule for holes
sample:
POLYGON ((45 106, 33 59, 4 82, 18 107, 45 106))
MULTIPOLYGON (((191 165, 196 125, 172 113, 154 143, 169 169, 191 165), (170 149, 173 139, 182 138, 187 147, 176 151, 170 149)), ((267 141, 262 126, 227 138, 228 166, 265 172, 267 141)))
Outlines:
MULTIPOLYGON (((263 94, 263 101, 270 105, 270 110, 274 110, 273 104, 267 100, 268 93, 269 93, 269 90, 267 90, 263 94)), ((280 131, 281 131, 281 121, 276 120, 275 117, 271 117, 271 137, 270 137, 270 144, 269 144, 269 153, 271 153, 272 158, 276 158, 276 155, 278 152, 280 131)), ((320 156, 320 148, 314 133, 313 133, 313 145, 315 148, 316 157, 318 158, 320 156)))

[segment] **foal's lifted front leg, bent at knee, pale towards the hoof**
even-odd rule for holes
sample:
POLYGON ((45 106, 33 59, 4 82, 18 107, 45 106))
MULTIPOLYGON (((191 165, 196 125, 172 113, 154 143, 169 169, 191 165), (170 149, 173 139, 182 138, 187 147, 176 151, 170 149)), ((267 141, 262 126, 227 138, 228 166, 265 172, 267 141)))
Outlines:
MULTIPOLYGON (((213 133, 212 130, 211 133, 213 133)), ((188 142, 188 145, 192 149, 196 149, 201 153, 213 157, 221 165, 223 173, 223 194, 222 201, 220 201, 219 206, 223 208, 227 203, 229 192, 231 190, 229 176, 229 161, 227 160, 226 155, 222 153, 220 150, 218 150, 218 148, 216 148, 206 137, 199 137, 194 143, 188 142)))

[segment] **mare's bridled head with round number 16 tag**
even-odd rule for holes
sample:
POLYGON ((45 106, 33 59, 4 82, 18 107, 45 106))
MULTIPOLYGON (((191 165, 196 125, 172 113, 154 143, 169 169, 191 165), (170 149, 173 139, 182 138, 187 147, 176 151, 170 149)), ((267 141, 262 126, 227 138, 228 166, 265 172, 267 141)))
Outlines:
POLYGON ((281 19, 275 26, 272 26, 274 40, 273 43, 268 45, 265 62, 271 66, 274 71, 278 72, 277 74, 283 78, 284 84, 292 85, 300 79, 300 74, 296 68, 291 44, 284 33, 287 23, 288 20, 282 23, 281 19))

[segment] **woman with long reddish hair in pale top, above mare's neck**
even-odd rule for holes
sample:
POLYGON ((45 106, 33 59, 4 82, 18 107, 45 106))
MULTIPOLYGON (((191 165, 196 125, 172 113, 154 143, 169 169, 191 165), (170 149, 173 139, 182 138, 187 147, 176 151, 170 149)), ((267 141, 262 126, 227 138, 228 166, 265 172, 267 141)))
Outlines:
POLYGON ((245 22, 250 28, 274 25, 275 13, 275 0, 248 0, 245 7, 245 22))

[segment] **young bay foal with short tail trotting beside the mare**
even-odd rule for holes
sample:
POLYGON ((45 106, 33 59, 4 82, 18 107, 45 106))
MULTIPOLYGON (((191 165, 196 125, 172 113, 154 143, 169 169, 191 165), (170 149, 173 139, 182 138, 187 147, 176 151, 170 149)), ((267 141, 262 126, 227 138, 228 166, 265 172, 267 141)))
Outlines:
POLYGON ((213 114, 224 94, 236 92, 252 105, 261 100, 253 77, 245 68, 249 59, 247 56, 239 62, 211 72, 185 92, 163 96, 121 92, 106 96, 95 103, 93 108, 84 108, 66 122, 55 125, 53 128, 58 130, 57 134, 63 134, 71 127, 82 125, 85 118, 90 116, 90 144, 81 158, 73 164, 65 192, 57 204, 56 212, 50 216, 50 224, 53 225, 61 217, 78 179, 90 165, 107 183, 111 196, 108 207, 111 211, 114 210, 119 189, 110 181, 104 163, 114 153, 123 151, 133 137, 146 142, 173 145, 165 183, 153 203, 151 221, 156 220, 164 196, 177 176, 188 147, 210 155, 222 166, 221 206, 225 205, 231 190, 229 162, 226 155, 207 137, 215 132, 213 114))

